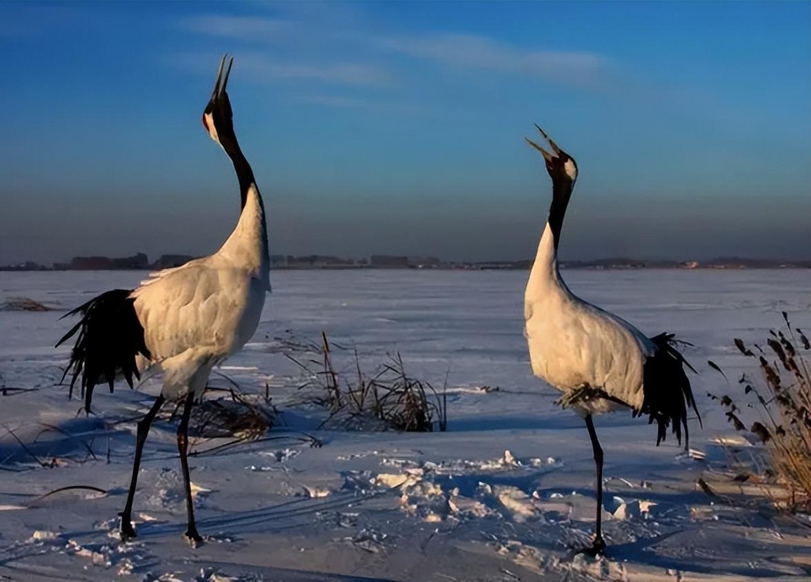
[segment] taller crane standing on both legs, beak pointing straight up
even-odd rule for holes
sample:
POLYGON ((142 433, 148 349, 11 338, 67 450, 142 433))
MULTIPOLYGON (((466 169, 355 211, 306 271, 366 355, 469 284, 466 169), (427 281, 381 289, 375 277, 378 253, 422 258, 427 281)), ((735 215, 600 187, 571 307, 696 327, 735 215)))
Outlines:
POLYGON ((163 374, 161 394, 138 423, 130 490, 119 514, 124 540, 135 537, 132 499, 149 426, 166 400, 182 400, 178 452, 186 490, 186 537, 192 546, 202 541, 195 526, 187 460, 191 406, 203 396, 212 368, 251 338, 270 291, 264 205, 251 165, 239 148, 225 92, 233 62, 231 58, 225 67, 225 56, 220 62, 203 126, 237 173, 242 212, 234 231, 213 255, 152 273, 137 289, 114 289, 72 310, 67 315, 81 314, 82 319, 57 344, 79 332, 65 375, 72 370, 72 392, 81 374, 88 413, 93 388, 106 381, 112 392, 118 372, 130 387, 144 365, 163 374))

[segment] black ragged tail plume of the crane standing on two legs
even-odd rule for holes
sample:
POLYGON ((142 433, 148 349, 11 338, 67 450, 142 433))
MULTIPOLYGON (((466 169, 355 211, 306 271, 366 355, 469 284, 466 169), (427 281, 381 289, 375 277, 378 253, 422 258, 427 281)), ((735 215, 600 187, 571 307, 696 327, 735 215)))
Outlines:
POLYGON ((82 374, 84 409, 88 413, 93 388, 102 376, 109 384, 109 392, 113 392, 115 374, 118 370, 124 374, 127 384, 132 387, 132 377, 140 379, 138 367, 135 366, 135 356, 141 353, 144 357, 150 357, 144 343, 144 327, 135 315, 133 306, 135 300, 130 298, 130 293, 131 291, 127 289, 101 293, 62 316, 64 318, 68 315, 82 315, 79 323, 71 327, 71 331, 58 341, 57 347, 79 332, 71 351, 71 361, 62 374, 62 381, 73 370, 68 392, 68 398, 71 398, 76 379, 79 373, 82 374))

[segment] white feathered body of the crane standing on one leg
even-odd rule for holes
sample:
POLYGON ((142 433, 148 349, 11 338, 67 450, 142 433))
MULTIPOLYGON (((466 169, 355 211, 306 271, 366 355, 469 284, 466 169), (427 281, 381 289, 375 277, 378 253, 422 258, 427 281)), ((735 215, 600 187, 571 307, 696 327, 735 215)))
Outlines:
POLYGON ((524 297, 532 370, 560 392, 591 387, 612 399, 579 401, 581 415, 641 409, 643 370, 654 344, 616 315, 576 297, 560 278, 547 224, 524 297))

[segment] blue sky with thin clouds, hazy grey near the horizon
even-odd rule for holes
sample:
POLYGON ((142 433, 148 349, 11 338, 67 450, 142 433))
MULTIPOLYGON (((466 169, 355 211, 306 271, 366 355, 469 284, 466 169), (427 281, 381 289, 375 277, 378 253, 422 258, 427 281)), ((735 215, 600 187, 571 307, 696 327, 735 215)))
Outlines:
POLYGON ((0 263, 207 254, 221 53, 272 252, 811 255, 808 2, 0 4, 0 263))

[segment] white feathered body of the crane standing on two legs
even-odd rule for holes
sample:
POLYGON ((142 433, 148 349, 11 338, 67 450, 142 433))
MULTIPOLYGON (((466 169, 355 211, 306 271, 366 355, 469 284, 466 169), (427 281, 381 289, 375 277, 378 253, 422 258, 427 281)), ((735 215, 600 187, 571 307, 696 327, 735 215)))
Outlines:
MULTIPOLYGON (((164 374, 163 396, 202 396, 214 366, 241 349, 270 290, 264 210, 251 186, 238 224, 220 250, 152 273, 130 297, 152 354, 139 367, 164 374)), ((143 359, 143 358, 142 358, 143 359)))

